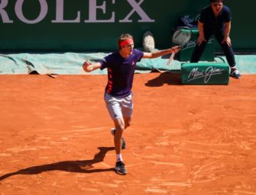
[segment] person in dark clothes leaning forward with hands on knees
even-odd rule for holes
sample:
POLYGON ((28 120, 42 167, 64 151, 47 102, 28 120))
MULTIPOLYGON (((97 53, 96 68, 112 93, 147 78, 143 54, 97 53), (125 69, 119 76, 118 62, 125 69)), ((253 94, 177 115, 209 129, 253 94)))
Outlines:
POLYGON ((199 61, 209 38, 214 35, 225 53, 228 65, 231 68, 230 75, 239 79, 241 75, 235 67, 235 56, 229 37, 232 20, 231 11, 223 5, 223 2, 224 0, 210 0, 210 5, 201 11, 198 24, 199 37, 190 62, 199 61))

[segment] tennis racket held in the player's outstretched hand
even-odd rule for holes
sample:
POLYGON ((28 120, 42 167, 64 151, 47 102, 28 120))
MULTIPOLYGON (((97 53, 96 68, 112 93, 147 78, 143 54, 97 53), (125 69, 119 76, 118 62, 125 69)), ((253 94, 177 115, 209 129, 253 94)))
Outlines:
MULTIPOLYGON (((182 27, 176 30, 173 33, 172 42, 175 46, 180 46, 182 48, 184 45, 186 45, 187 42, 189 42, 191 37, 191 30, 189 27, 182 27)), ((173 58, 174 58, 175 52, 173 52, 170 55, 170 59, 167 62, 167 66, 170 66, 173 58)))

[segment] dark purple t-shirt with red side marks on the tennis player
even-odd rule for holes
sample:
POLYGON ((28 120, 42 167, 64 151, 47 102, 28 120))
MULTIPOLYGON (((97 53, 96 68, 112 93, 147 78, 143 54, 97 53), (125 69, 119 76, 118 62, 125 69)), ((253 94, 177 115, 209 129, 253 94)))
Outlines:
POLYGON ((143 52, 134 49, 127 58, 123 58, 117 51, 100 60, 102 64, 100 69, 108 69, 108 84, 105 92, 117 97, 131 94, 135 66, 141 61, 142 56, 143 52))

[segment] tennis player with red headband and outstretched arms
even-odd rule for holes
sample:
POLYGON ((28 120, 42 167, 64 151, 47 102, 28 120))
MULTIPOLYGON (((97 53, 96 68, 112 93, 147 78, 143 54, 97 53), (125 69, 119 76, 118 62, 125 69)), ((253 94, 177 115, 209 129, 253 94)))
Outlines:
POLYGON ((122 142, 124 142, 122 135, 124 130, 131 125, 133 109, 131 88, 136 63, 142 58, 153 59, 169 53, 177 53, 179 50, 179 46, 174 46, 168 50, 145 53, 134 49, 134 40, 130 34, 122 34, 118 38, 118 51, 105 56, 99 62, 86 61, 83 63, 83 69, 86 72, 95 69, 108 69, 108 83, 105 87, 104 99, 110 117, 115 124, 112 134, 114 135, 116 153, 115 170, 118 174, 128 173, 122 158, 122 142))

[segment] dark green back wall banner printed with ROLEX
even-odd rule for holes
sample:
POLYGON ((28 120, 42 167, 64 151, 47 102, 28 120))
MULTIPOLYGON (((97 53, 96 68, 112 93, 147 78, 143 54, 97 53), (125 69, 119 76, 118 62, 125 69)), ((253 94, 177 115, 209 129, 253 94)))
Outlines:
MULTIPOLYGON (((106 51, 117 48, 123 33, 142 47, 145 31, 154 34, 157 48, 171 46, 180 16, 197 15, 209 0, 1 0, 2 51, 106 51)), ((254 50, 252 9, 256 2, 227 1, 232 10, 235 50, 254 50)))

